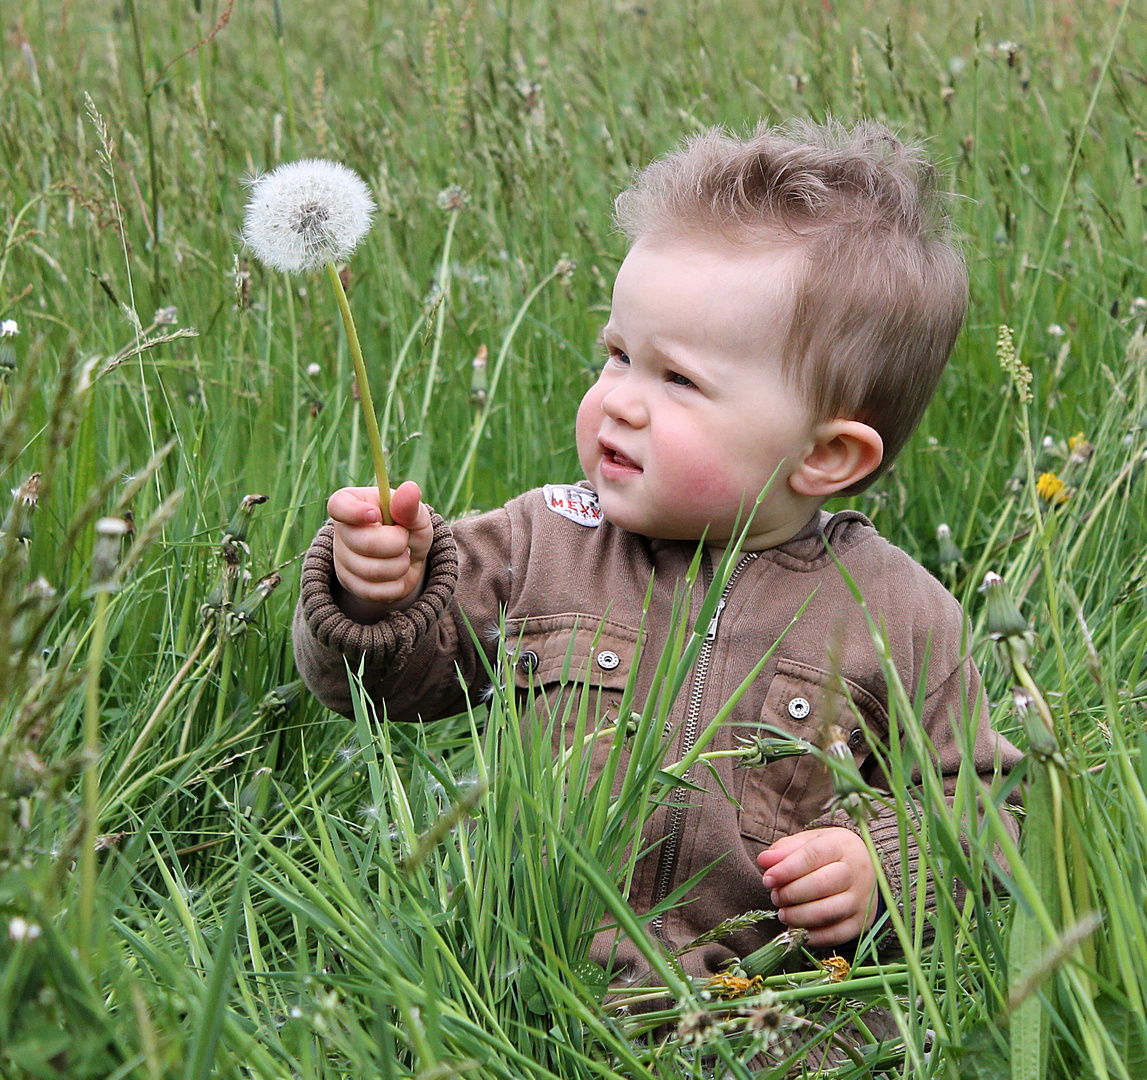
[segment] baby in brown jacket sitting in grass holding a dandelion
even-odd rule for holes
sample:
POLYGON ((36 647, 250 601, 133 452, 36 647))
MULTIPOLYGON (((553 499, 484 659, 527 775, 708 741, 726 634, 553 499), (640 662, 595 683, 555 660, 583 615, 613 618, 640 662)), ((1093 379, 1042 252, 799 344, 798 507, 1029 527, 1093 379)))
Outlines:
MULTIPOLYGON (((934 185, 920 150, 876 124, 709 132, 645 169, 617 199, 631 246, 602 331, 604 367, 577 414, 585 482, 453 525, 413 483, 395 491, 391 526, 373 488, 335 492, 295 621, 309 686, 349 712, 345 657, 365 662, 380 715, 382 706, 391 721, 457 713, 485 688, 479 650, 496 660, 501 648, 496 635, 476 642, 463 613, 476 628, 504 618, 523 689, 556 694, 572 655, 569 678, 588 673, 611 722, 639 644, 656 657, 666 641, 699 542, 694 617, 713 557, 767 486, 674 705, 671 754, 687 752, 807 604, 711 749, 762 723, 816 742, 828 713, 861 774, 887 786, 868 739, 887 736, 888 687, 835 555, 885 627, 910 691, 923 683, 945 776, 960 767, 961 718, 976 726, 977 772, 989 780, 997 764, 1009 768, 1019 754, 989 727, 957 602, 864 516, 821 510, 895 459, 963 319, 963 260, 934 185), (851 697, 843 707, 832 701, 840 680, 851 697)), ((651 666, 639 667, 639 702, 651 666)), ((724 759, 718 772, 724 791, 690 776, 709 790, 679 792, 649 823, 629 897, 639 914, 716 862, 650 932, 677 949, 731 916, 775 908, 813 947, 855 941, 877 910, 875 871, 853 823, 826 809, 824 766, 798 757, 734 772, 724 759)), ((877 807, 871 830, 898 891, 916 853, 910 840, 905 868, 889 808, 877 807)), ((766 921, 729 934, 688 953, 686 968, 716 972, 778 929, 766 921)), ((595 942, 598 958, 612 945, 595 942)), ((642 960, 622 942, 616 964, 634 977, 642 960)))

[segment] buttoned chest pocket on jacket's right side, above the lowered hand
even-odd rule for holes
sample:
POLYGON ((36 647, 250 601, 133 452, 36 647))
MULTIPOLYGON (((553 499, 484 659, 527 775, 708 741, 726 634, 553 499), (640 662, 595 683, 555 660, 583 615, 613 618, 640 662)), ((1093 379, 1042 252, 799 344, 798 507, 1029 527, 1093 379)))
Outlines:
MULTIPOLYGON (((834 688, 840 682, 829 672, 797 660, 780 660, 765 696, 762 723, 820 745, 820 728, 832 720, 843 730, 863 769, 869 754, 865 728, 883 739, 888 734, 888 713, 864 687, 849 679, 842 681, 851 702, 834 688)), ((765 845, 806 829, 826 812, 833 798, 828 768, 811 753, 781 758, 746 773, 741 832, 765 845)))

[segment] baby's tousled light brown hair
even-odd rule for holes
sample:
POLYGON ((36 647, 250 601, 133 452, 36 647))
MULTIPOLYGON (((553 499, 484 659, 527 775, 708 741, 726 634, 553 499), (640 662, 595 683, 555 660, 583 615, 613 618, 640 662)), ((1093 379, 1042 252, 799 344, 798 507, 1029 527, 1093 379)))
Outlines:
POLYGON ((804 257, 783 346, 816 421, 859 420, 895 460, 931 399, 968 303, 967 271, 920 146, 876 123, 711 130, 646 166, 615 206, 640 238, 794 243, 804 257))

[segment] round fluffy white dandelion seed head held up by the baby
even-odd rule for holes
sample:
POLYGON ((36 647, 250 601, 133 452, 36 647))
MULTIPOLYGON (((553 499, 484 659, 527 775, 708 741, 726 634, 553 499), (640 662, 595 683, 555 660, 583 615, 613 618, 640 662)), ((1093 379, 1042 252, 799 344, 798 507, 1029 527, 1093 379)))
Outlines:
POLYGON ((374 210, 352 170, 304 158, 251 181, 243 242, 272 269, 313 271, 348 258, 369 230, 374 210))

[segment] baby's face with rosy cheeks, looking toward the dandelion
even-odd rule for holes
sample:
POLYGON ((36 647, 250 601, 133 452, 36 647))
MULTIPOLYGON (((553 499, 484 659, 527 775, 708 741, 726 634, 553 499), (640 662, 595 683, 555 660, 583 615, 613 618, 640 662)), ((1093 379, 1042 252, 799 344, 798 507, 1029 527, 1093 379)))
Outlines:
POLYGON ((816 425, 781 375, 801 256, 723 241, 639 241, 614 285, 609 357, 582 401, 582 468, 608 521, 674 540, 727 540, 779 468, 747 549, 816 509, 788 485, 816 425), (707 531, 708 530, 708 531, 707 531))

